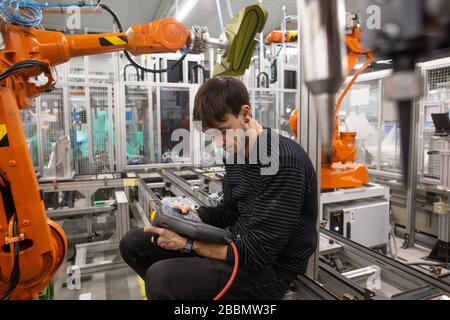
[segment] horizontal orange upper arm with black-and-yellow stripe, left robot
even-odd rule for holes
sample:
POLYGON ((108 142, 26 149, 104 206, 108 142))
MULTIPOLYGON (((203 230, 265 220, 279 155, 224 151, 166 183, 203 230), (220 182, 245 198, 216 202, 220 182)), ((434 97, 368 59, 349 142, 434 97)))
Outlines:
POLYGON ((36 59, 58 65, 74 57, 127 50, 134 55, 175 52, 189 44, 190 31, 174 18, 132 26, 125 33, 65 35, 61 32, 3 24, 5 50, 14 62, 36 59))

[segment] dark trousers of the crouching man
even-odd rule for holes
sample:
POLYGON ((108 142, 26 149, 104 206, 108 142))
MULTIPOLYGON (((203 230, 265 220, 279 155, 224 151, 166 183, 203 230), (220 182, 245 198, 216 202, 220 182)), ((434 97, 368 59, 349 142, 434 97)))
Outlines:
MULTIPOLYGON (((151 242, 142 229, 128 232, 120 241, 124 261, 145 281, 149 300, 212 300, 225 286, 233 271, 226 262, 165 250, 151 242)), ((279 300, 289 281, 272 268, 248 272, 239 268, 237 276, 222 299, 279 300)))

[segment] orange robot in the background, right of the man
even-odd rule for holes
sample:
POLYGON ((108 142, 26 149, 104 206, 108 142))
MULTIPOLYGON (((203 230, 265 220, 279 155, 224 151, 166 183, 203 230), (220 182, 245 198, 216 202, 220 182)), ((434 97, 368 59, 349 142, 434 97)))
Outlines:
MULTIPOLYGON (((364 165, 356 163, 356 132, 339 132, 339 118, 338 113, 342 105, 342 101, 350 91, 351 87, 357 80, 358 76, 370 65, 372 62, 372 52, 363 47, 361 43, 361 25, 357 15, 347 14, 347 34, 345 35, 345 45, 347 47, 347 61, 349 75, 355 68, 361 56, 366 57, 366 61, 353 75, 350 82, 339 96, 339 99, 334 108, 334 133, 332 143, 332 157, 331 164, 322 159, 321 171, 321 188, 322 189, 337 189, 337 188, 354 188, 361 187, 369 182, 369 172, 364 165)), ((297 41, 296 31, 286 31, 283 35, 280 31, 272 31, 267 36, 269 42, 281 42, 285 37, 285 41, 297 41)), ((297 117, 298 111, 294 110, 289 120, 290 126, 294 133, 297 133, 297 117)))

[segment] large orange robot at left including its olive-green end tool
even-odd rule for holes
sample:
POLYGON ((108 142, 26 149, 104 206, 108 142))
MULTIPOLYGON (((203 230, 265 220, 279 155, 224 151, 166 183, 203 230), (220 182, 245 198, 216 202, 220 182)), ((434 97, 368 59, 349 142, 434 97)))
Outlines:
POLYGON ((52 67, 73 57, 106 52, 127 50, 126 55, 128 51, 139 55, 181 49, 201 52, 207 47, 221 47, 226 53, 216 74, 239 75, 250 63, 254 37, 267 20, 266 10, 254 4, 232 20, 226 32, 227 40, 210 38, 205 28, 190 31, 173 18, 132 26, 123 32, 115 13, 99 3, 113 15, 119 33, 64 35, 36 28, 42 14, 34 1, 18 5, 21 7, 12 10, 2 7, 6 22, 0 24, 4 40, 4 50, 0 51, 0 292, 3 299, 35 298, 52 279, 67 250, 63 230, 47 219, 19 114, 20 109, 31 105, 34 97, 53 89, 52 67))

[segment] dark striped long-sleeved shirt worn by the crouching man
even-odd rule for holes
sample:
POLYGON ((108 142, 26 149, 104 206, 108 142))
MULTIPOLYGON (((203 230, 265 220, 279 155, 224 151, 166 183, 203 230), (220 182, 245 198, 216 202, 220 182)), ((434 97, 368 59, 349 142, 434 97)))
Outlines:
MULTIPOLYGON (((264 152, 271 155, 271 163, 277 162, 278 172, 261 174, 267 164, 260 157, 256 162, 226 164, 223 200, 217 207, 200 207, 198 213, 203 222, 233 233, 242 268, 259 272, 271 266, 283 278, 294 279, 306 272, 316 249, 316 173, 295 141, 268 129, 261 139, 268 140, 264 152), (278 150, 270 147, 274 135, 278 150)), ((234 261, 231 247, 227 260, 234 261)))

